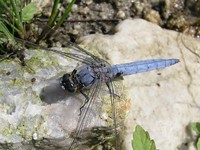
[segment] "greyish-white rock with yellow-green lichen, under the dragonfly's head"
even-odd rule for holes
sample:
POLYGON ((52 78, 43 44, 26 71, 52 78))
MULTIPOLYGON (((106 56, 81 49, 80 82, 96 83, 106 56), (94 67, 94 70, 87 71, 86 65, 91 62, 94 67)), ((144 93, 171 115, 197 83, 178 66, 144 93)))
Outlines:
MULTIPOLYGON (((84 97, 64 91, 59 81, 77 62, 39 50, 27 50, 25 62, 1 62, 0 149, 69 149, 84 97)), ((97 110, 89 109, 83 130, 106 126, 97 110)))

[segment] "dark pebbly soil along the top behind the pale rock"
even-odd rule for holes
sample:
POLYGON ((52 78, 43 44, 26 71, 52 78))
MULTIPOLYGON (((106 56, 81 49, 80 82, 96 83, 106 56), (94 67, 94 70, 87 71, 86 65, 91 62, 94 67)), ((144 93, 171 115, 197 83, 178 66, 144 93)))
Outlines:
MULTIPOLYGON (((68 2, 69 3, 69 2, 68 2)), ((61 10, 68 5, 65 2, 61 10)), ((51 11, 51 5, 44 8, 35 24, 42 28, 51 11)), ((143 18, 163 28, 187 32, 200 38, 200 1, 141 1, 141 0, 77 0, 66 22, 52 36, 54 46, 67 46, 77 38, 101 33, 113 34, 113 29, 124 19, 143 18), (61 45, 58 45, 58 44, 61 45)))

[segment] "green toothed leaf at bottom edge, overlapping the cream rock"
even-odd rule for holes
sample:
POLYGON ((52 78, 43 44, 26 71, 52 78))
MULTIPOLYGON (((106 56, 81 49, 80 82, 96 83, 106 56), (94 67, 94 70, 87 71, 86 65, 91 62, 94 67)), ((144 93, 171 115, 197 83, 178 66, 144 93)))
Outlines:
POLYGON ((149 133, 139 125, 133 133, 132 147, 133 150, 156 150, 154 140, 151 140, 149 133))

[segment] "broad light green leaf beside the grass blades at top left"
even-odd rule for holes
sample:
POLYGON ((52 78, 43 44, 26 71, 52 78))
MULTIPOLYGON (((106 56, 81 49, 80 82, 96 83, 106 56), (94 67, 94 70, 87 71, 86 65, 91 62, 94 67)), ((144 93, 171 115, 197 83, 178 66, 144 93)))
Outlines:
POLYGON ((36 14, 36 3, 32 2, 22 9, 22 22, 30 21, 36 14))

